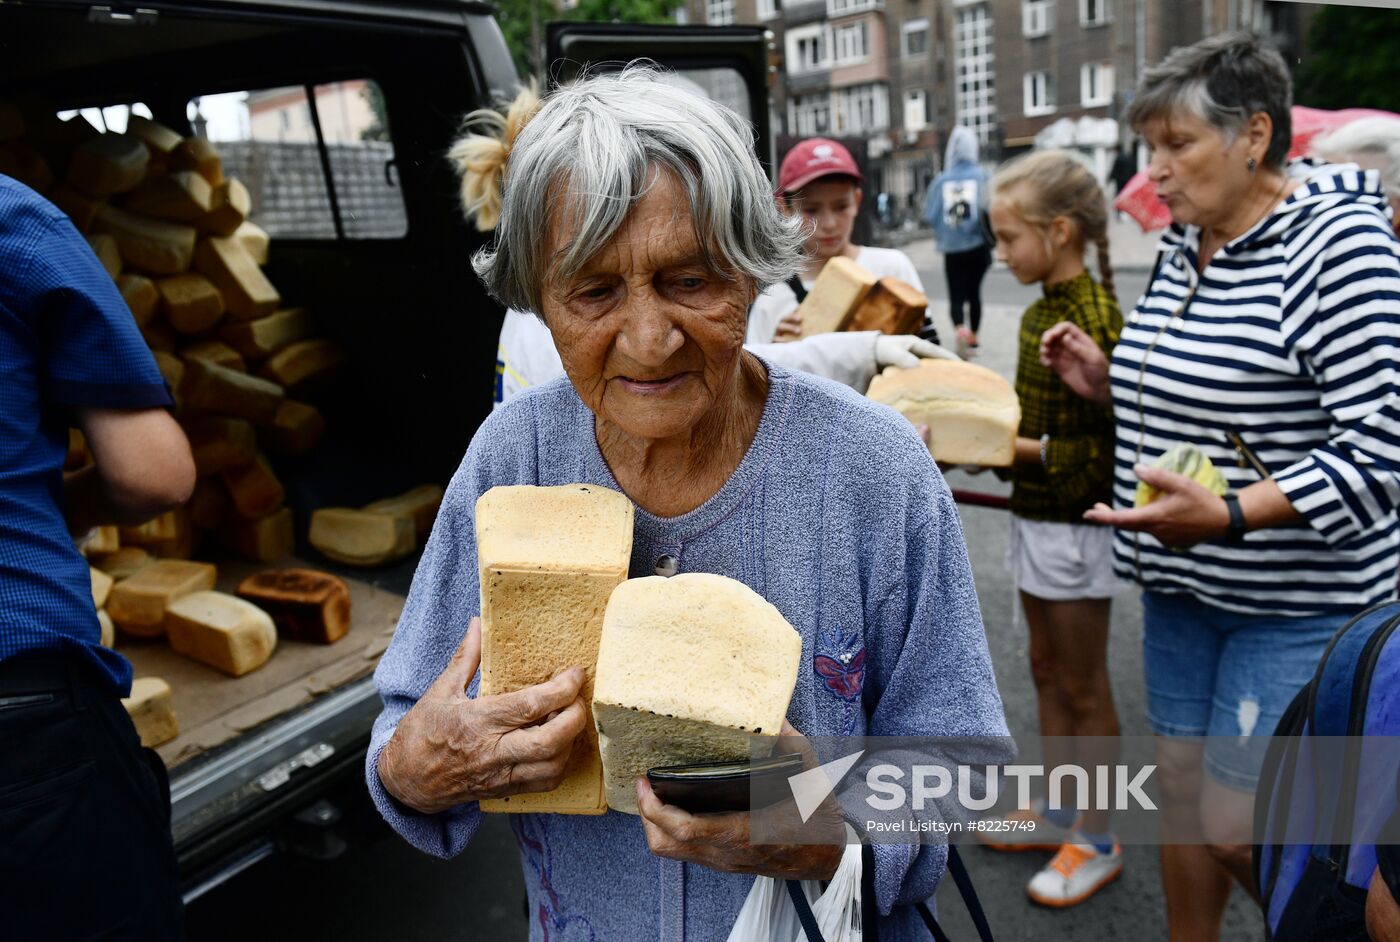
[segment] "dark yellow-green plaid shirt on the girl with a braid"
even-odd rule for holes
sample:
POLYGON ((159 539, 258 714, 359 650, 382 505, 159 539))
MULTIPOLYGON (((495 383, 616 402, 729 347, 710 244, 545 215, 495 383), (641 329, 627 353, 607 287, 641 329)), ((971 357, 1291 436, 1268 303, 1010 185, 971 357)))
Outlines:
POLYGON ((1068 321, 1093 337, 1107 354, 1119 342, 1123 314, 1117 302, 1085 272, 1049 286, 1044 297, 1021 318, 1016 395, 1021 434, 1050 435, 1046 463, 1012 470, 1011 512, 1032 521, 1082 523, 1098 501, 1113 502, 1113 409, 1074 393, 1053 370, 1040 364, 1040 335, 1068 321))

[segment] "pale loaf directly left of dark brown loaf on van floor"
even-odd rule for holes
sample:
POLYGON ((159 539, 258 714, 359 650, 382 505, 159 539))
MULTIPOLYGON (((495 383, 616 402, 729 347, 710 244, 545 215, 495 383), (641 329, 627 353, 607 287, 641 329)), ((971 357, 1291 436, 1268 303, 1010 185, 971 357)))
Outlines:
POLYGON ((171 649, 241 677, 267 663, 277 648, 272 616, 225 592, 190 592, 165 606, 171 649))

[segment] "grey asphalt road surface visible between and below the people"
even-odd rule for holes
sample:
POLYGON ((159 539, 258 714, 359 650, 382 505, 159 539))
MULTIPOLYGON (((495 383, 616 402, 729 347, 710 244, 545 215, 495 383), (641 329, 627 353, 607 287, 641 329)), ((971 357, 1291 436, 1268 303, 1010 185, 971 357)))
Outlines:
MULTIPOLYGON (((942 274, 921 272, 935 300, 935 316, 951 337, 942 274)), ((1123 272, 1120 294, 1135 298, 1145 272, 1123 272)), ((979 361, 1012 375, 1015 333, 1021 311, 1037 294, 1016 284, 1004 270, 993 270, 986 283, 987 309, 979 361)), ((1005 493, 990 474, 955 474, 952 483, 972 490, 1005 493)), ((983 605, 987 638, 1014 733, 1036 729, 1036 705, 1026 661, 1025 621, 1015 606, 1015 592, 1005 572, 1008 521, 1004 511, 963 508, 963 528, 983 605)), ((1134 593, 1114 602, 1109 659, 1114 697, 1126 735, 1147 735, 1141 673, 1141 610, 1134 593)), ((354 794, 343 810, 358 820, 361 833, 351 848, 330 861, 280 855, 259 864, 196 900, 188 928, 193 942, 277 942, 281 939, 395 939, 444 942, 522 939, 526 920, 524 889, 508 824, 489 816, 472 845, 456 859, 424 857, 375 827, 365 802, 354 794)), ((354 829, 351 829, 354 830, 354 829)), ((1156 851, 1130 847, 1123 878, 1098 897, 1070 911, 1033 907, 1023 886, 1044 861, 1043 854, 1000 855, 967 848, 966 861, 987 907, 998 939, 1057 939, 1079 942, 1133 938, 1165 939, 1156 851)), ((953 939, 976 938, 965 908, 946 880, 938 910, 953 939)), ((1254 906, 1236 892, 1222 935, 1229 941, 1261 939, 1263 925, 1254 906)))

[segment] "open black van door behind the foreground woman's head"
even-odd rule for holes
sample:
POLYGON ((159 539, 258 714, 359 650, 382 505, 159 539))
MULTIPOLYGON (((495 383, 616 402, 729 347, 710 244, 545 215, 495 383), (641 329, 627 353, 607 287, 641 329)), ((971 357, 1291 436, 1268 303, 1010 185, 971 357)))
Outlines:
POLYGON ((769 55, 773 34, 762 27, 672 27, 630 22, 552 22, 546 34, 549 80, 570 83, 581 71, 622 69, 650 59, 753 125, 755 148, 774 175, 769 55))

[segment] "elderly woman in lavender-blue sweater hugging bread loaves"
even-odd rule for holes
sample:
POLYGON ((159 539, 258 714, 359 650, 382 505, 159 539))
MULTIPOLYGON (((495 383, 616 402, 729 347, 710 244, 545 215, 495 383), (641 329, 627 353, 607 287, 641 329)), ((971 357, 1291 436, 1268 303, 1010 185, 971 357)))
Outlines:
MULTIPOLYGON (((802 241, 749 127, 654 70, 561 88, 515 137, 475 265, 543 316, 567 375, 477 431, 375 675, 367 780, 416 847, 454 855, 479 799, 552 788, 587 717, 577 668, 476 696, 473 508, 497 484, 619 490, 636 505, 633 575, 717 572, 773 602, 802 635, 788 721, 804 735, 1005 735, 928 449, 895 412, 742 349, 749 302, 798 269, 802 241)), ((753 845, 748 816, 687 815, 644 781, 638 805, 640 820, 512 816, 531 938, 722 939, 752 875, 829 878, 841 854, 753 845)), ((875 848, 881 938, 923 938, 897 904, 932 894, 945 851, 875 848)))

